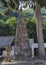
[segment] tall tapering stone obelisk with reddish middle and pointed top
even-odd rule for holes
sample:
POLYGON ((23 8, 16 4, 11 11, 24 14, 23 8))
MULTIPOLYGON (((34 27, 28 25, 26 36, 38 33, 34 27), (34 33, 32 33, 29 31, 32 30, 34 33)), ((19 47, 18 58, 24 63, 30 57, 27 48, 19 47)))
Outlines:
POLYGON ((16 28, 16 38, 15 38, 16 50, 17 53, 23 54, 25 56, 31 55, 31 49, 29 44, 29 38, 26 29, 26 23, 24 22, 22 8, 19 12, 17 28, 16 28))

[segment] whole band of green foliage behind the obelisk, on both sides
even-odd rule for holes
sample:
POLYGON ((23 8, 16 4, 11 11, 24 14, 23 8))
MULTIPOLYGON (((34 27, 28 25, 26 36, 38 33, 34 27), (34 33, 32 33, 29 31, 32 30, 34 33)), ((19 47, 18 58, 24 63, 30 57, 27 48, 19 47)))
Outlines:
MULTIPOLYGON (((44 42, 46 42, 46 17, 42 18, 43 37, 44 42)), ((17 21, 15 17, 10 17, 7 21, 0 20, 0 36, 14 36, 16 34, 17 21)), ((35 17, 25 18, 25 22, 29 38, 34 38, 34 41, 37 42, 35 17)))

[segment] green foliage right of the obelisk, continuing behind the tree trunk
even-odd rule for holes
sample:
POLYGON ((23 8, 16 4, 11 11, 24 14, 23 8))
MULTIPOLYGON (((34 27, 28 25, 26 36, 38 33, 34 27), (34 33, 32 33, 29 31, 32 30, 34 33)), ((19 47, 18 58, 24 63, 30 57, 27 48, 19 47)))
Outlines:
MULTIPOLYGON (((43 37, 44 42, 46 42, 46 17, 42 17, 42 28, 43 28, 43 37)), ((37 42, 37 34, 36 34, 36 19, 32 17, 31 19, 26 18, 26 26, 29 38, 34 38, 34 41, 37 42)))

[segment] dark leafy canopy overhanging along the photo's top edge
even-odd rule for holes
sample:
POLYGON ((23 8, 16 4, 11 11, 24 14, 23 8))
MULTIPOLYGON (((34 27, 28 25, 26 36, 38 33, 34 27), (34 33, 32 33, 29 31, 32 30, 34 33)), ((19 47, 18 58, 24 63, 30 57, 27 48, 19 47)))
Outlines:
POLYGON ((9 9, 15 9, 18 10, 19 8, 19 2, 26 2, 27 4, 31 4, 30 2, 33 1, 37 1, 41 7, 45 6, 46 7, 46 0, 0 0, 3 4, 3 6, 8 7, 9 9))

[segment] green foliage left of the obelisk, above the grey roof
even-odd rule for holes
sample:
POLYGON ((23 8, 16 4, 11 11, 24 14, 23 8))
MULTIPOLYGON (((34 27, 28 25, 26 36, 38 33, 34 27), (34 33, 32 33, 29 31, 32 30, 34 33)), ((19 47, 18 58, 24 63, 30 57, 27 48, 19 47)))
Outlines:
POLYGON ((0 36, 15 35, 16 22, 15 17, 9 18, 6 22, 0 20, 0 36))

